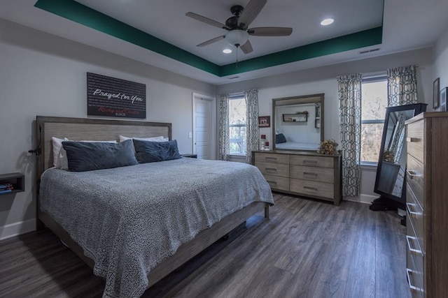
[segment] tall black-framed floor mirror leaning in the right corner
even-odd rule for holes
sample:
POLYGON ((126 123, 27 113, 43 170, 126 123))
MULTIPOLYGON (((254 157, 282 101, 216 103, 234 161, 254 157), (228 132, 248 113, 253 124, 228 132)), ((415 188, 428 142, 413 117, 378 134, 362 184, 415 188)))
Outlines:
POLYGON ((426 111, 426 104, 400 105, 386 109, 374 192, 381 195, 371 210, 405 209, 406 126, 405 121, 426 111))

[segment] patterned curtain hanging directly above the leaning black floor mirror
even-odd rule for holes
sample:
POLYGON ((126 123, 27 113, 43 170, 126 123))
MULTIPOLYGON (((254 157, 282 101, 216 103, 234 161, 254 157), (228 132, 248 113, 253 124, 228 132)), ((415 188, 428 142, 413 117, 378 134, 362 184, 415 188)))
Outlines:
POLYGON ((417 103, 415 66, 402 66, 387 70, 387 100, 389 107, 417 103))

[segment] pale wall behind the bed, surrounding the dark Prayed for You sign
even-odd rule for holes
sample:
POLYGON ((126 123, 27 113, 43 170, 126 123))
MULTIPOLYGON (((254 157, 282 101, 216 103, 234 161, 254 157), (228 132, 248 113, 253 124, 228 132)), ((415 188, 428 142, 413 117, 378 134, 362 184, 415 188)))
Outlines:
POLYGON ((23 193, 0 196, 0 239, 34 230, 36 115, 87 117, 86 73, 146 84, 146 121, 172 122, 179 151, 193 150, 193 92, 211 84, 0 19, 0 173, 25 174, 23 193))

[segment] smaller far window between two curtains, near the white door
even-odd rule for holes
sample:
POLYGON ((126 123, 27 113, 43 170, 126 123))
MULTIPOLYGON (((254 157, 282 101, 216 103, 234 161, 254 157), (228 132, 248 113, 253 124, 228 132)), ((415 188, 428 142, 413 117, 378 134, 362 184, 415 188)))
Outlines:
POLYGON ((241 94, 229 99, 230 154, 246 155, 246 100, 241 94))

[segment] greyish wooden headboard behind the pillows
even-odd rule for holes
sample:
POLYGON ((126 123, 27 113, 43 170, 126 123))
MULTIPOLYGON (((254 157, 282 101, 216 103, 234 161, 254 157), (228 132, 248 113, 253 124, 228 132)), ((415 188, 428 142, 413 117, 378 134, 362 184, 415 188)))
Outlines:
POLYGON ((157 137, 162 135, 172 140, 172 124, 145 121, 123 121, 66 117, 36 117, 36 140, 41 154, 36 163, 36 178, 53 166, 51 137, 69 140, 119 140, 125 137, 157 137))

